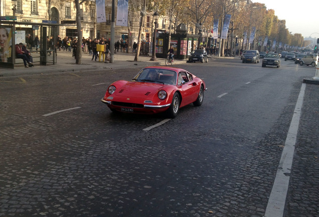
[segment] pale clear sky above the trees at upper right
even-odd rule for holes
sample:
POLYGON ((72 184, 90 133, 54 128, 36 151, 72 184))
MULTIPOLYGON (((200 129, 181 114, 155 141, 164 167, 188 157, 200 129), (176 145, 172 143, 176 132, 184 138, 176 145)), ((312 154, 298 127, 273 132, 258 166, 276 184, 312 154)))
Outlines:
POLYGON ((273 9, 279 20, 286 21, 291 34, 300 33, 303 38, 319 38, 318 0, 252 0, 265 4, 267 10, 273 9), (315 33, 315 34, 312 34, 315 33))

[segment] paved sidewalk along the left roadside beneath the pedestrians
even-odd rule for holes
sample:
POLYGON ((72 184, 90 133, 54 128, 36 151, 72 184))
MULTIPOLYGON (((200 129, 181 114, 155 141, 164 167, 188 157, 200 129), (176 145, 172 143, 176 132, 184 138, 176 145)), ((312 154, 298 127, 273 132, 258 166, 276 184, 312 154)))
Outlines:
MULTIPOLYGON (((34 67, 25 68, 24 64, 16 64, 14 69, 0 68, 0 77, 6 76, 17 76, 17 75, 30 75, 30 74, 44 74, 52 72, 67 72, 67 71, 88 71, 88 70, 101 70, 101 69, 119 69, 129 68, 136 66, 152 66, 152 65, 165 65, 164 58, 157 58, 157 61, 150 61, 151 56, 140 55, 138 61, 134 61, 135 54, 116 52, 114 54, 113 63, 104 63, 101 56, 101 61, 92 61, 92 56, 89 53, 82 52, 82 64, 78 65, 75 63, 72 52, 68 51, 57 51, 57 63, 53 64, 53 55, 48 56, 46 66, 40 65, 39 62, 34 63, 34 67)), ((175 64, 186 63, 186 60, 175 60, 175 64)))

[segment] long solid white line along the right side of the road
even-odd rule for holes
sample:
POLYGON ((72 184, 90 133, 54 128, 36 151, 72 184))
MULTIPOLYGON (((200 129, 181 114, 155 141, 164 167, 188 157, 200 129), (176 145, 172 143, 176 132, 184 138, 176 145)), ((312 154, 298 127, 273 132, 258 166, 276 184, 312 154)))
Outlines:
POLYGON ((305 83, 301 85, 296 106, 294 108, 292 120, 289 131, 282 150, 277 174, 274 184, 269 196, 268 204, 265 211, 265 217, 280 217, 283 216, 285 201, 289 186, 289 176, 291 172, 291 165, 294 153, 294 147, 297 139, 297 132, 300 121, 301 107, 303 103, 303 96, 305 90, 305 83))

